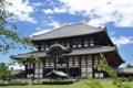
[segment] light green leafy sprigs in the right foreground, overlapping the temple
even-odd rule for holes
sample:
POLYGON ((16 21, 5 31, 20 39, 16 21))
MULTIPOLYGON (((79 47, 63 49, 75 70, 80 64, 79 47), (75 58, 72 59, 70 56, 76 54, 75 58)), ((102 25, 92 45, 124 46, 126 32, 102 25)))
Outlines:
MULTIPOLYGON (((100 57, 102 58, 102 62, 100 62, 100 65, 95 66, 94 68, 100 72, 104 72, 104 73, 109 74, 109 76, 113 80, 113 85, 116 88, 131 88, 130 82, 123 82, 121 79, 117 78, 116 72, 114 72, 114 69, 112 69, 109 66, 109 64, 104 57, 104 54, 101 53, 100 57)), ((95 59, 96 59, 96 57, 95 57, 95 59)), ((101 82, 99 80, 93 79, 88 74, 86 74, 86 78, 89 79, 88 85, 90 88, 103 88, 103 86, 101 85, 101 82)))

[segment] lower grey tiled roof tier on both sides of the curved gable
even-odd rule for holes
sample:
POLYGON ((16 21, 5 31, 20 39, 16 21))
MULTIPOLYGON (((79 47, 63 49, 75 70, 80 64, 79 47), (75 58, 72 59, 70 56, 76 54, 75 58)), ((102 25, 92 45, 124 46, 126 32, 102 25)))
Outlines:
MULTIPOLYGON (((69 54, 63 54, 64 56, 71 55, 86 55, 86 54, 98 54, 105 52, 116 51, 115 46, 99 46, 99 47, 89 47, 89 48, 74 48, 69 54)), ((45 52, 31 52, 27 54, 11 55, 11 58, 25 58, 29 55, 35 55, 37 57, 47 57, 45 52)))

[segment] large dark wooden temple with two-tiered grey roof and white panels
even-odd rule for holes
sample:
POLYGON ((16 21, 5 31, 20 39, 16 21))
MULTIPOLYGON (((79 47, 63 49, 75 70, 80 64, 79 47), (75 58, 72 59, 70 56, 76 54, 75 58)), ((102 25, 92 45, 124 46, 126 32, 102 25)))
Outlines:
POLYGON ((23 59, 29 55, 40 58, 40 64, 25 65, 27 78, 47 78, 53 69, 73 78, 84 77, 86 73, 94 78, 106 77, 105 73, 94 68, 101 62, 100 53, 104 54, 113 68, 124 63, 106 28, 93 28, 85 23, 70 24, 34 35, 30 40, 38 45, 38 51, 11 56, 13 59, 23 59))

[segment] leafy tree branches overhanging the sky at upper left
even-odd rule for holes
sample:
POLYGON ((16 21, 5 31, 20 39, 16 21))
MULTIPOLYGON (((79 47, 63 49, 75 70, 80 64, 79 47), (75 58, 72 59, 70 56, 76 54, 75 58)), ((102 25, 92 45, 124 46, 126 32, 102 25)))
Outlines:
POLYGON ((14 48, 16 44, 22 44, 24 47, 32 45, 29 37, 17 32, 16 24, 9 19, 13 13, 7 11, 6 6, 11 3, 0 0, 0 53, 7 53, 10 48, 14 48))

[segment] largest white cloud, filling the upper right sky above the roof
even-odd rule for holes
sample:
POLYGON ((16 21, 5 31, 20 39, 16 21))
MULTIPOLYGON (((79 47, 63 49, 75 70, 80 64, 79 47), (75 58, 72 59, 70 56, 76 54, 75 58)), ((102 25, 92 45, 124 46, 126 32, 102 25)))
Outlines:
POLYGON ((49 9, 53 13, 70 13, 89 18, 91 25, 114 23, 116 26, 133 26, 132 0, 59 0, 60 6, 49 9))

